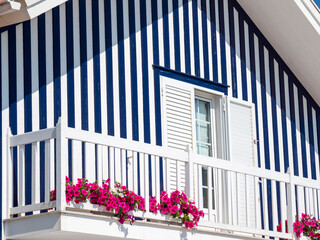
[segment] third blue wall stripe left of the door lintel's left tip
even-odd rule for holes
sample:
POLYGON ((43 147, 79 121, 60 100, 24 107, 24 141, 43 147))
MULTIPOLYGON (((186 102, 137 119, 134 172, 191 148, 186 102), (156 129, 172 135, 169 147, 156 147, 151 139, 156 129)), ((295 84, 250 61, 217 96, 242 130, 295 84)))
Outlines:
MULTIPOLYGON (((119 105, 120 105, 120 137, 127 138, 126 124, 126 86, 124 66, 124 35, 123 35, 123 5, 117 1, 118 23, 118 67, 119 67, 119 105)), ((127 76, 128 77, 128 76, 127 76)))

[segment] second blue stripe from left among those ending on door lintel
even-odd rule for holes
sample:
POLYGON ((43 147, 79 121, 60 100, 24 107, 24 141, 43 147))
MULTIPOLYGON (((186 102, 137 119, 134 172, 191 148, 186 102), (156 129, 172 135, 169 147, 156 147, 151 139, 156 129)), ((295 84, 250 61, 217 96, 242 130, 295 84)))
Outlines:
MULTIPOLYGON (((168 0, 162 0, 162 15, 163 15, 163 45, 164 45, 164 66, 170 68, 170 49, 169 45, 169 16, 168 16, 168 0)), ((142 14, 140 13, 142 16, 142 14)), ((139 16, 136 16, 139 17, 139 16)), ((142 27, 142 26, 141 26, 142 27)))

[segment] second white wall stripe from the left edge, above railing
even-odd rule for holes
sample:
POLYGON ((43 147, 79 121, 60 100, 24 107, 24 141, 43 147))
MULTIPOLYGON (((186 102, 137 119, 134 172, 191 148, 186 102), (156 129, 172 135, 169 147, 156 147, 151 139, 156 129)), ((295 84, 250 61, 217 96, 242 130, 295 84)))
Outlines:
POLYGON ((17 58, 17 134, 24 133, 23 28, 16 26, 17 58))

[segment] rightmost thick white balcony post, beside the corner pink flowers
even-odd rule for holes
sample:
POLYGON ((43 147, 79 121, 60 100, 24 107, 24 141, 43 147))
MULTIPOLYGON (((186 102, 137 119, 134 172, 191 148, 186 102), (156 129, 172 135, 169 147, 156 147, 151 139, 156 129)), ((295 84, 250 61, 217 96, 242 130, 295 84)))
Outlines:
POLYGON ((288 198, 288 232, 293 233, 293 222, 296 218, 296 199, 295 199, 295 185, 293 181, 294 173, 288 168, 287 174, 289 174, 289 184, 287 187, 288 198))

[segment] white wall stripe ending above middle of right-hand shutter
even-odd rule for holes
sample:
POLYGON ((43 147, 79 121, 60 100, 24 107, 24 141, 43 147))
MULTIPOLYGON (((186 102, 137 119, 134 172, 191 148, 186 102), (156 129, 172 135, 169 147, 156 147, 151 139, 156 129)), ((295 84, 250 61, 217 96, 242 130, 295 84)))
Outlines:
POLYGON ((235 45, 236 45, 236 72, 237 72, 237 91, 238 98, 242 98, 242 76, 241 76, 241 56, 240 56, 240 31, 239 31, 239 14, 233 8, 234 13, 234 32, 235 32, 235 45))

